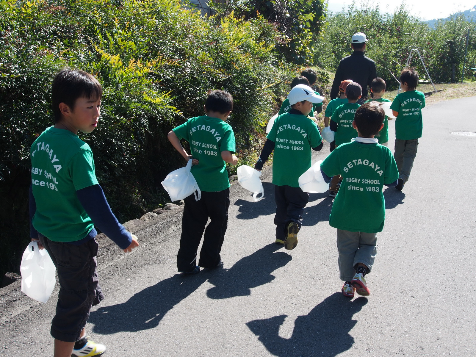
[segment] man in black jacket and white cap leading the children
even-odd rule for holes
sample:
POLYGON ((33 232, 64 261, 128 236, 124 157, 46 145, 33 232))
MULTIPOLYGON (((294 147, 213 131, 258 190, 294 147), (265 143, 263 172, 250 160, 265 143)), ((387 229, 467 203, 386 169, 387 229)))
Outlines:
POLYGON ((337 97, 340 83, 345 79, 352 79, 362 87, 362 98, 357 101, 358 104, 362 105, 368 99, 367 85, 370 87, 372 80, 377 77, 377 68, 375 62, 364 55, 367 41, 365 33, 357 32, 352 36, 354 52, 340 60, 332 83, 330 99, 337 97))

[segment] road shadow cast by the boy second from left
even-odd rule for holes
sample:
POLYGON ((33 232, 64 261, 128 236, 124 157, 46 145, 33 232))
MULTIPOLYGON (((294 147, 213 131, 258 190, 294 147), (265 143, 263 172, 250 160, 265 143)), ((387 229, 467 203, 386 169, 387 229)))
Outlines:
POLYGON ((180 301, 198 289, 207 278, 202 274, 176 274, 139 291, 128 301, 92 311, 89 322, 94 333, 109 335, 120 331, 154 328, 180 301))

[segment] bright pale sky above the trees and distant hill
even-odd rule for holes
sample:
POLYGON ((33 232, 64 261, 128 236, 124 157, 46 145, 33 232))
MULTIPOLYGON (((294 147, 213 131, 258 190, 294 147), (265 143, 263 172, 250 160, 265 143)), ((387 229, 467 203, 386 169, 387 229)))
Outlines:
MULTIPOLYGON (((341 11, 343 7, 352 4, 353 0, 327 0, 327 9, 333 12, 341 11)), ((356 4, 366 1, 356 1, 356 4)), ((399 0, 368 1, 371 7, 379 4, 380 10, 393 12, 401 4, 399 0), (375 4, 375 5, 374 5, 375 4)), ((446 18, 449 15, 469 10, 476 5, 476 0, 417 0, 407 1, 407 8, 413 10, 413 14, 421 20, 433 20, 446 18)))

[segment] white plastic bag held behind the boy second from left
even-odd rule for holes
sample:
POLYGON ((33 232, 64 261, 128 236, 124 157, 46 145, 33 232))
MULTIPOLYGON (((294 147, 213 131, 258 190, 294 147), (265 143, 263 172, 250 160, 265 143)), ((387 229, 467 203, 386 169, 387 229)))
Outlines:
POLYGON ((191 168, 192 159, 188 160, 187 166, 170 172, 169 175, 160 182, 167 193, 169 193, 172 202, 180 201, 192 193, 195 195, 196 201, 202 198, 202 191, 198 188, 197 181, 190 172, 191 168))

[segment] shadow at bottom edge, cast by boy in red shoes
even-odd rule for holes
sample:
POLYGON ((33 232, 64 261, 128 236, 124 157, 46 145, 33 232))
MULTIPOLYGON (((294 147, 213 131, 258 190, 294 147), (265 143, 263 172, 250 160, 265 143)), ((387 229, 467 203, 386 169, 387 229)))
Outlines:
POLYGON ((336 356, 354 344, 349 331, 357 320, 352 320, 352 316, 365 304, 365 297, 349 301, 341 293, 335 293, 306 316, 297 317, 290 338, 278 335, 287 315, 250 321, 247 326, 273 356, 336 356))

